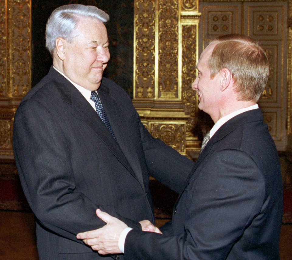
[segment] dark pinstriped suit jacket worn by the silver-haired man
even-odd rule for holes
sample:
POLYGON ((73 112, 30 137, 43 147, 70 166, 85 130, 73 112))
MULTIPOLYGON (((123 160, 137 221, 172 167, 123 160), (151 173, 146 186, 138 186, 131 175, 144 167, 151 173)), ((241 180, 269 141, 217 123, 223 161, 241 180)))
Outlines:
POLYGON ((96 208, 141 229, 137 221, 154 222, 149 174, 180 192, 183 171, 193 167, 148 133, 120 86, 103 78, 98 94, 118 145, 88 101, 53 67, 17 109, 13 150, 36 215, 41 260, 99 259, 76 239, 105 224, 96 208))

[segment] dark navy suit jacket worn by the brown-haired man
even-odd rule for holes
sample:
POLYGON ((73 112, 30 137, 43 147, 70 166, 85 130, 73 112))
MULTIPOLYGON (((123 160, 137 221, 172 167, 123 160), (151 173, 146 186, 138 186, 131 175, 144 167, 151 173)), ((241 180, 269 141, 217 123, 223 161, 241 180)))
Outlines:
POLYGON ((259 109, 235 116, 200 154, 164 235, 132 230, 125 259, 279 259, 283 187, 259 109))

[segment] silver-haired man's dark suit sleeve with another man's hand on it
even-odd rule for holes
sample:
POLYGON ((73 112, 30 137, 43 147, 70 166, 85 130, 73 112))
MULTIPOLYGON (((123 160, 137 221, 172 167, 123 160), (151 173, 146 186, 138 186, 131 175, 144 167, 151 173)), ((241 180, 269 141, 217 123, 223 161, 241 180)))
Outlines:
POLYGON ((43 226, 83 244, 76 234, 105 225, 95 210, 107 210, 78 191, 67 138, 41 103, 27 100, 20 104, 14 120, 13 151, 27 201, 43 226))

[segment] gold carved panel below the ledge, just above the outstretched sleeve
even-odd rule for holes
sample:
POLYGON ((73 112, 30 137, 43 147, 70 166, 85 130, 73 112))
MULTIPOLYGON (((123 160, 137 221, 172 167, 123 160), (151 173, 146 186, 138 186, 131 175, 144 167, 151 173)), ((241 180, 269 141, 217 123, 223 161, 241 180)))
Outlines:
POLYGON ((150 133, 153 137, 161 139, 165 144, 185 153, 185 125, 177 123, 151 123, 150 133))

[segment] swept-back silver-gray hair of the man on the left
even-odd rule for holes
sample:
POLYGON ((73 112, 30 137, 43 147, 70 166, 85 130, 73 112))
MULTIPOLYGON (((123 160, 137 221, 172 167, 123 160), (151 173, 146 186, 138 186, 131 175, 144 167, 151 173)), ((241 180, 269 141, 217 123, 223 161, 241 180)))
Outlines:
POLYGON ((46 48, 51 55, 54 53, 55 41, 58 37, 71 42, 74 37, 73 31, 81 17, 99 19, 103 23, 109 21, 107 13, 92 5, 72 4, 56 8, 51 13, 46 26, 46 48))

